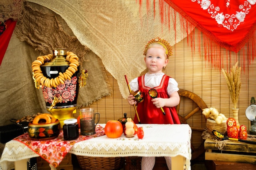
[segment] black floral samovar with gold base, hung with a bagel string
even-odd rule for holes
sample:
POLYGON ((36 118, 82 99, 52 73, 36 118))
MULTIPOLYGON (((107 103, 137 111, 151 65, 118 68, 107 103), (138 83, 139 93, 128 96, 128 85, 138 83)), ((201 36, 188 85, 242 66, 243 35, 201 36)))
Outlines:
POLYGON ((36 88, 42 88, 46 108, 59 119, 74 118, 79 87, 85 86, 87 70, 80 73, 79 58, 67 49, 53 49, 53 55, 37 57, 32 62, 36 88))

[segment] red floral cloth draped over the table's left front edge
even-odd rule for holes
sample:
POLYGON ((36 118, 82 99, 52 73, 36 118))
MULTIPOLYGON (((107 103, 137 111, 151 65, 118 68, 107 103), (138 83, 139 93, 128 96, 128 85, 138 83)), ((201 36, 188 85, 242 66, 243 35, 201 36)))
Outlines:
POLYGON ((63 130, 61 130, 60 135, 55 139, 36 141, 31 140, 28 133, 22 134, 13 140, 20 141, 25 144, 28 148, 37 153, 40 157, 45 159, 47 162, 52 164, 52 166, 57 167, 63 158, 67 155, 67 152, 72 148, 72 146, 79 141, 91 139, 94 137, 99 137, 105 135, 104 128, 97 125, 95 128, 96 134, 90 136, 79 135, 76 140, 65 141, 63 139, 63 130))

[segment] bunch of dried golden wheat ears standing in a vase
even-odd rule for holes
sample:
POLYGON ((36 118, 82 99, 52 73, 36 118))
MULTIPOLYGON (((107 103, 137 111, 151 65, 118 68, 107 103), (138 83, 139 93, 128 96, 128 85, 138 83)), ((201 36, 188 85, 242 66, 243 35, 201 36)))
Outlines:
POLYGON ((226 79, 227 87, 229 88, 229 95, 231 96, 234 108, 238 101, 241 88, 241 67, 238 67, 238 62, 231 68, 230 74, 222 68, 222 73, 226 79))

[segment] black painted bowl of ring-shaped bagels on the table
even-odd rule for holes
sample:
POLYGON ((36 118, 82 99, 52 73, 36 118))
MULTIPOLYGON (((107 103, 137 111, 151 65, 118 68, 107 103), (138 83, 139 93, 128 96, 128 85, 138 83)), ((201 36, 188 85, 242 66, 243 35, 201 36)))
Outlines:
POLYGON ((31 139, 49 140, 58 137, 60 130, 61 124, 58 119, 49 113, 42 113, 29 122, 27 131, 31 139))

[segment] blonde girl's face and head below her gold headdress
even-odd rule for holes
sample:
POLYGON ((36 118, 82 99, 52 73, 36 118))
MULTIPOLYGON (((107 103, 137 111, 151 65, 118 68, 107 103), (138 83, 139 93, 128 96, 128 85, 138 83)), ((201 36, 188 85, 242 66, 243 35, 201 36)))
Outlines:
POLYGON ((150 46, 150 48, 147 50, 144 60, 149 74, 162 73, 163 67, 165 67, 169 61, 166 58, 165 49, 161 45, 150 46))

